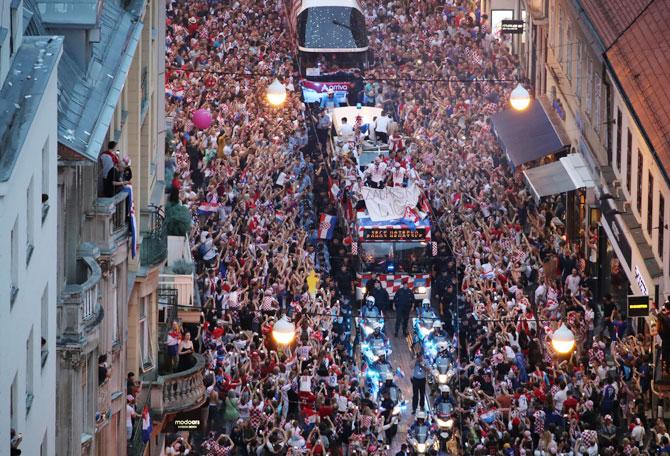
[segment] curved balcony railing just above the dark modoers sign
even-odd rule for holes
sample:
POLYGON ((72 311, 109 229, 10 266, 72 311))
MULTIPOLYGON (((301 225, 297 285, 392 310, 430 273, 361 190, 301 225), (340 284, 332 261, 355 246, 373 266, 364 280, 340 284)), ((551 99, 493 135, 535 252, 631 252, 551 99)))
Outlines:
POLYGON ((151 382, 151 411, 154 415, 188 411, 205 402, 204 356, 194 353, 194 365, 188 370, 159 375, 151 382))

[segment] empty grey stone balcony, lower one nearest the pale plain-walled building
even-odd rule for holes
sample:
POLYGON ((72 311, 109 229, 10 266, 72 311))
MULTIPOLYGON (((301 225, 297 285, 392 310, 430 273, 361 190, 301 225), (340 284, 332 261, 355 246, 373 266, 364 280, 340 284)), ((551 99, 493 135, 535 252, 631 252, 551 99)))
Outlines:
POLYGON ((102 271, 96 258, 100 251, 93 244, 78 250, 74 283, 68 283, 58 305, 58 343, 82 343, 102 320, 99 283, 102 271))

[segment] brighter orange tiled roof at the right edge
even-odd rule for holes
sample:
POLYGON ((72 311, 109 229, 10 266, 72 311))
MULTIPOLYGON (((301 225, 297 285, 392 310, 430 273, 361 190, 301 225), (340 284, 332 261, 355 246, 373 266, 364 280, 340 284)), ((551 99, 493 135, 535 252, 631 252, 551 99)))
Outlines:
POLYGON ((670 170, 668 23, 670 0, 653 0, 606 56, 651 146, 670 170))

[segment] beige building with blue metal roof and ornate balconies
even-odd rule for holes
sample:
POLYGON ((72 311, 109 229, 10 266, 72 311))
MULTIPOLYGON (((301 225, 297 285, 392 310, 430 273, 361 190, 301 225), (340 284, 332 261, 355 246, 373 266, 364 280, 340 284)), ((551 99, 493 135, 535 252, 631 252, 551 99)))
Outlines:
MULTIPOLYGON (((121 455, 130 437, 126 375, 142 380, 157 369, 156 289, 167 255, 165 8, 150 0, 26 0, 26 9, 29 32, 64 37, 55 453, 121 455), (118 143, 119 159, 130 159, 135 236, 128 194, 102 191, 99 157, 109 141, 118 143)), ((130 443, 131 453, 143 451, 141 439, 130 443)))

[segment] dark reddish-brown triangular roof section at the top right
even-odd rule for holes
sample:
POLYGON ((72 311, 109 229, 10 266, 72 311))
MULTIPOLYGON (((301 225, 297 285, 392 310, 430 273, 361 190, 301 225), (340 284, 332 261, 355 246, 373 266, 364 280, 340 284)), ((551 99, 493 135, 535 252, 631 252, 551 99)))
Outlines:
POLYGON ((609 47, 650 0, 580 0, 589 21, 609 47))

